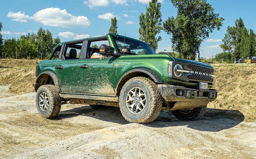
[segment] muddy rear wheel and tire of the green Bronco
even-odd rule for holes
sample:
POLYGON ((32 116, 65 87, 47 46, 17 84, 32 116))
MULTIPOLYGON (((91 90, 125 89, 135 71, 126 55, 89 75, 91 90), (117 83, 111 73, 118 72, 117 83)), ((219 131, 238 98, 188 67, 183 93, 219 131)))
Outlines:
POLYGON ((54 85, 42 85, 37 90, 36 105, 39 114, 44 118, 58 116, 61 108, 61 97, 54 85))

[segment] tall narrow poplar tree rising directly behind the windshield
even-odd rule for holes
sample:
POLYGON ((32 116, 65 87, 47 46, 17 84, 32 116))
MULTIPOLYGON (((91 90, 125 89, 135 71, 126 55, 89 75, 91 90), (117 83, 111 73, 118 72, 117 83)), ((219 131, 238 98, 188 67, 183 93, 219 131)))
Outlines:
POLYGON ((139 17, 139 39, 149 43, 155 51, 158 48, 158 42, 162 40, 161 36, 157 36, 162 30, 162 14, 160 9, 161 3, 157 2, 157 0, 151 0, 149 7, 146 6, 145 15, 141 13, 139 17))

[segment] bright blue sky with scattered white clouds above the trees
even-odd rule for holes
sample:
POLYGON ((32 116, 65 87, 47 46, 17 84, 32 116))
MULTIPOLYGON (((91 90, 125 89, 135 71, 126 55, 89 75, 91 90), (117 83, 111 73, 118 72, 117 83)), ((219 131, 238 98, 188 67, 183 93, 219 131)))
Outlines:
MULTIPOLYGON (((148 0, 0 0, 0 21, 3 23, 3 38, 19 37, 29 32, 36 33, 39 27, 49 29, 53 37, 69 41, 86 37, 103 36, 108 33, 111 21, 117 17, 119 35, 139 38, 139 16, 145 14, 148 0)), ((162 19, 176 17, 176 8, 170 0, 162 4, 162 19)), ((215 13, 224 17, 221 29, 214 30, 200 47, 200 56, 215 56, 221 52, 219 45, 227 26, 234 26, 241 17, 247 29, 256 32, 256 0, 208 0, 215 13)), ((171 36, 160 34, 159 51, 171 51, 171 36)))

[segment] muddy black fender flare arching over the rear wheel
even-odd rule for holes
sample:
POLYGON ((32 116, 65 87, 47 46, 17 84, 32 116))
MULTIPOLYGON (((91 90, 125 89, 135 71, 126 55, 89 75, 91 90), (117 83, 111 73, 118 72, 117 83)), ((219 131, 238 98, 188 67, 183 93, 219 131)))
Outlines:
MULTIPOLYGON (((45 75, 49 75, 49 76, 52 78, 52 81, 53 81, 54 85, 56 86, 56 89, 57 89, 58 92, 60 93, 61 90, 60 90, 60 87, 59 87, 59 79, 57 78, 57 76, 56 76, 52 71, 45 71, 45 72, 40 73, 40 74, 37 76, 36 85, 38 85, 38 88, 39 88, 41 85, 48 84, 48 83, 41 83, 41 82, 40 82, 40 80, 41 80, 42 78, 44 78, 45 75)), ((46 81, 45 81, 45 82, 46 82, 46 81)), ((35 85, 35 90, 37 91, 38 88, 36 88, 36 85, 35 85)))

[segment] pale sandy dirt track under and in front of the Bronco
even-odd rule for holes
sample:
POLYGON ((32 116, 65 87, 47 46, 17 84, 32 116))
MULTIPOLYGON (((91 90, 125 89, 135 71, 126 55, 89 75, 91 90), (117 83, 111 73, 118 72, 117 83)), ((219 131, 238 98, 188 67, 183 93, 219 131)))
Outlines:
POLYGON ((190 122, 161 111, 155 122, 135 124, 117 107, 65 104, 45 119, 35 93, 6 96, 0 93, 0 158, 256 158, 256 122, 237 110, 208 108, 190 122))

